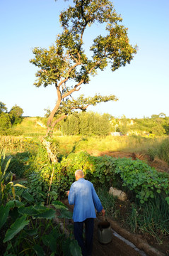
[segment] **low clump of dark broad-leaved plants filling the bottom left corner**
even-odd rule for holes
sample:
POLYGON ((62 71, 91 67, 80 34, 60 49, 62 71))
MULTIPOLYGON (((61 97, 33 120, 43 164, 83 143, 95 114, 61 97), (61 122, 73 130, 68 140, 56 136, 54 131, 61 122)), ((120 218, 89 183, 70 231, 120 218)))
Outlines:
MULTIPOLYGON (((8 201, 0 206, 1 243, 4 255, 81 255, 81 248, 73 238, 66 238, 59 225, 52 222, 56 213, 52 208, 34 204, 28 191, 20 193, 23 202, 8 201)), ((54 206, 61 206, 55 201, 54 206)), ((62 218, 71 218, 62 205, 62 218)))

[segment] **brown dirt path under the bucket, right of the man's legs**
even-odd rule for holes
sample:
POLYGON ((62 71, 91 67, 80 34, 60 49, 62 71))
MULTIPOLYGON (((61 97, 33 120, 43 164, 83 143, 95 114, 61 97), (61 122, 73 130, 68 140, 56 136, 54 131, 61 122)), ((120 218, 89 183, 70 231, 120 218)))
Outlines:
MULTIPOLYGON (((69 206, 67 199, 62 202, 69 210, 73 211, 74 207, 69 206)), ((102 217, 95 219, 92 256, 165 256, 162 252, 148 245, 139 235, 134 235, 120 228, 108 216, 107 220, 112 228, 112 242, 108 245, 100 244, 98 241, 98 223, 102 220, 102 217)), ((73 220, 71 220, 71 223, 73 223, 73 220)))

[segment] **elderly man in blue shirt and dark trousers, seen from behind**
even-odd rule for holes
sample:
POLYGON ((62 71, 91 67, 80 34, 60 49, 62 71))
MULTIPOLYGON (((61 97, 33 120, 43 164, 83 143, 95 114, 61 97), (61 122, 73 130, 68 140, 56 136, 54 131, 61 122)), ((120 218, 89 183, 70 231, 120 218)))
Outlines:
POLYGON ((81 246, 82 255, 89 256, 93 247, 95 208, 103 215, 105 215, 105 210, 95 192, 93 183, 83 177, 83 171, 75 172, 76 181, 72 183, 67 195, 69 204, 74 205, 74 238, 81 246), (85 224, 86 242, 83 241, 83 223, 85 224))

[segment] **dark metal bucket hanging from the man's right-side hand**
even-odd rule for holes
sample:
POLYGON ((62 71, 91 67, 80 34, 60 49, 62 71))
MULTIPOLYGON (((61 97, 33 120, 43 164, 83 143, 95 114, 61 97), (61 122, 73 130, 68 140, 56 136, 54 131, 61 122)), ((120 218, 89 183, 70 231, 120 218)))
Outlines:
POLYGON ((107 220, 98 223, 98 241, 103 245, 112 242, 112 230, 107 220))

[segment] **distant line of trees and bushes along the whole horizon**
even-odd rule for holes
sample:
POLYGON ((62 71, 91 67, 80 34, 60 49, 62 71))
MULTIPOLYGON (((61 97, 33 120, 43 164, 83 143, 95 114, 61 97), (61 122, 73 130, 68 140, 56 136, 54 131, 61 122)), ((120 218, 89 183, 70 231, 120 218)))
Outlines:
MULTIPOLYGON (((49 116, 48 111, 46 110, 45 117, 49 116)), ((8 111, 6 105, 0 102, 0 134, 13 134, 11 128, 22 122, 22 114, 23 109, 18 105, 14 105, 8 111)), ((124 115, 117 118, 110 114, 75 112, 59 122, 56 129, 60 129, 62 135, 107 136, 110 133, 120 132, 121 135, 164 136, 169 135, 169 117, 160 113, 141 119, 129 119, 124 115)), ((15 131, 13 135, 19 134, 15 131)))

